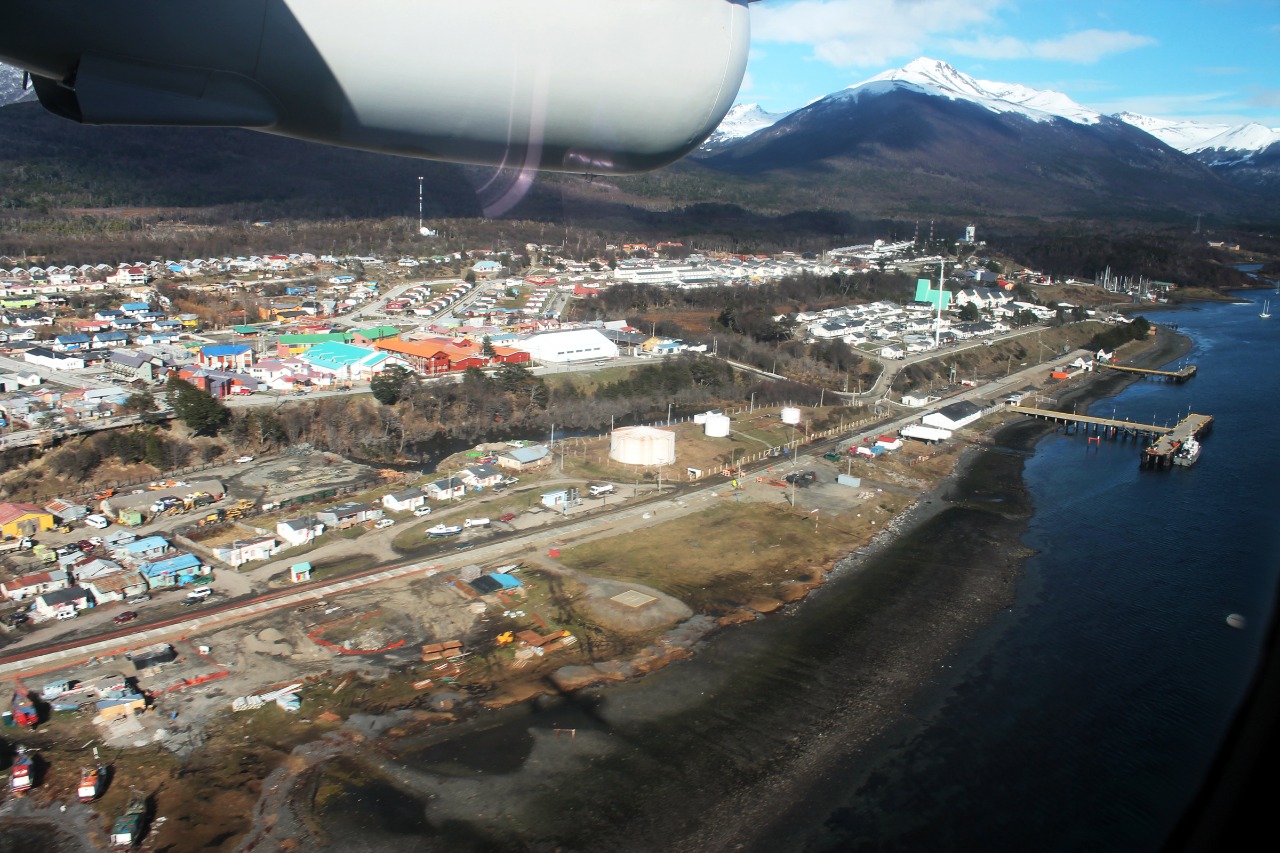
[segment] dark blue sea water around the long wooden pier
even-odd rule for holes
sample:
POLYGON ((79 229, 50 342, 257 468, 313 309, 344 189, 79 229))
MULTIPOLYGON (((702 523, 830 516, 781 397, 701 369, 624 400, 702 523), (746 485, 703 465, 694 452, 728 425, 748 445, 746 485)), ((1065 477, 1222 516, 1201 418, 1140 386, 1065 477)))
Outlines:
POLYGON ((1098 415, 1216 418, 1199 464, 1041 442, 1016 605, 923 722, 859 767, 810 849, 1153 850, 1194 798, 1257 662, 1280 575, 1280 323, 1248 305, 1165 315, 1199 375, 1098 415), (1247 630, 1225 617, 1238 612, 1247 630))

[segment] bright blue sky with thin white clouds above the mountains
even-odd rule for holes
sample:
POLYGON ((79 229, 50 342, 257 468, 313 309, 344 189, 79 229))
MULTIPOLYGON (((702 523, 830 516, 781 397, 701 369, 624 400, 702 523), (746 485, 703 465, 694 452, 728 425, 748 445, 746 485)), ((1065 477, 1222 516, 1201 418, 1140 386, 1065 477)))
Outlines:
POLYGON ((737 101, 790 110, 918 56, 1107 114, 1280 128, 1280 0, 763 0, 737 101))

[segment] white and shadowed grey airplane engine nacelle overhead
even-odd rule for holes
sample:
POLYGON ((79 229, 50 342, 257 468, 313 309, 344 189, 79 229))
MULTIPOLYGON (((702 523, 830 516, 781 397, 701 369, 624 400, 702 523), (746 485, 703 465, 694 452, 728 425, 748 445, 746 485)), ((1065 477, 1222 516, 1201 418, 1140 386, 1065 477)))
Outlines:
POLYGON ((0 59, 86 124, 621 174, 716 129, 746 67, 746 3, 0 0, 0 59))

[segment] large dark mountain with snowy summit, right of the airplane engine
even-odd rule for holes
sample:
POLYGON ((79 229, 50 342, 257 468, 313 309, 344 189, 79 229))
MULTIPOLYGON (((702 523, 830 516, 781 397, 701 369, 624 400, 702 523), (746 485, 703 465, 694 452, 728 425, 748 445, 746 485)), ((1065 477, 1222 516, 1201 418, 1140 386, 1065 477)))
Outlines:
POLYGON ((805 187, 842 205, 876 199, 877 211, 960 204, 1025 215, 1164 216, 1267 204, 1253 196, 1265 181, 1233 187, 1225 173, 1133 122, 934 59, 820 97, 696 160, 726 175, 777 177, 778 192, 805 187))

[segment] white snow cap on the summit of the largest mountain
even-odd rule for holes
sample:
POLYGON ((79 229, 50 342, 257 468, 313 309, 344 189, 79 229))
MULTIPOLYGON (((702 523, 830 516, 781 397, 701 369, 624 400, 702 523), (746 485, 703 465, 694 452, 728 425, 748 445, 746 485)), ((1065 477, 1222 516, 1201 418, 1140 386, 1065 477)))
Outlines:
POLYGON ((882 72, 856 86, 850 86, 845 93, 856 96, 860 91, 883 91, 902 86, 925 95, 970 101, 992 113, 1018 113, 1037 122, 1061 118, 1076 124, 1096 124, 1102 119, 1096 110, 1076 104, 1061 92, 975 79, 945 61, 924 56, 911 60, 902 68, 882 72))

